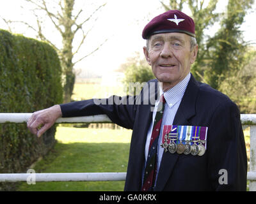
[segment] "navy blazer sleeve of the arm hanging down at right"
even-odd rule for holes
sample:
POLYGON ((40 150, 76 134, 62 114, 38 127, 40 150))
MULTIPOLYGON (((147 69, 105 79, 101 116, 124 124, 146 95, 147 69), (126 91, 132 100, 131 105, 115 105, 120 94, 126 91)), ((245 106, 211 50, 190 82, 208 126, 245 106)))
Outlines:
POLYGON ((240 113, 235 103, 221 103, 211 119, 208 171, 216 191, 246 191, 247 156, 240 113))

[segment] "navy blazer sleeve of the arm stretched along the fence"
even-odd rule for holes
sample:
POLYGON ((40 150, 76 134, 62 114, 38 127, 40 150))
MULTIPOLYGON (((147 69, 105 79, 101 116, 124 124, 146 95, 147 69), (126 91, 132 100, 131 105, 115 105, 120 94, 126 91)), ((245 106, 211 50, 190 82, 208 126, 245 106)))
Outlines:
POLYGON ((106 114, 115 124, 132 129, 136 112, 136 96, 111 96, 61 104, 62 117, 106 114))

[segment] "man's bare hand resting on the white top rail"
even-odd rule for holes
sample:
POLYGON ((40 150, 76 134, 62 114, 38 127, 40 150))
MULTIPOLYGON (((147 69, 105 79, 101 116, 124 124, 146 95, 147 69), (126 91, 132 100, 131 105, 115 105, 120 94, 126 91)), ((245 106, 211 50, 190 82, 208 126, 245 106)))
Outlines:
POLYGON ((62 116, 60 105, 34 112, 28 119, 27 126, 29 131, 40 137, 51 128, 55 121, 62 116))

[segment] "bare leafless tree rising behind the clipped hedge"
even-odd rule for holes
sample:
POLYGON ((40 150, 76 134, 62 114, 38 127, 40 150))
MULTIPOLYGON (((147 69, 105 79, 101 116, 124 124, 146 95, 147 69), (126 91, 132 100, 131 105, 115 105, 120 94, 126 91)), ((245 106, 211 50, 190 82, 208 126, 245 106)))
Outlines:
MULTIPOLYGON (((84 41, 88 33, 92 30, 93 25, 89 25, 86 27, 86 24, 92 21, 96 21, 93 19, 93 16, 97 11, 99 11, 103 6, 102 4, 95 8, 90 15, 84 13, 83 8, 78 10, 76 13, 74 11, 74 5, 76 3, 75 0, 58 0, 56 1, 47 1, 47 0, 25 0, 31 5, 33 5, 33 14, 36 17, 36 25, 31 25, 29 22, 20 22, 20 21, 10 21, 4 19, 7 24, 11 23, 22 23, 27 25, 30 29, 33 29, 37 33, 37 38, 43 41, 47 41, 55 50, 58 52, 61 61, 61 67, 63 70, 63 89, 64 89, 64 102, 67 103, 70 101, 72 96, 72 91, 74 88, 74 82, 76 75, 74 73, 74 65, 82 61, 84 58, 93 54, 95 51, 99 50, 99 48, 106 41, 102 41, 99 46, 92 49, 89 54, 83 55, 80 59, 74 62, 74 55, 79 52, 82 45, 84 45, 84 41), (42 20, 43 16, 47 16, 51 21, 52 25, 54 25, 56 31, 61 36, 61 47, 58 47, 56 43, 51 37, 46 36, 44 34, 44 20, 42 20), (82 17, 83 15, 83 17, 82 17), (74 38, 78 38, 77 34, 80 32, 81 38, 80 43, 76 46, 76 50, 73 50, 74 47, 74 38)), ((46 25, 49 26, 49 25, 46 25)), ((10 28, 10 26, 9 26, 10 28)))

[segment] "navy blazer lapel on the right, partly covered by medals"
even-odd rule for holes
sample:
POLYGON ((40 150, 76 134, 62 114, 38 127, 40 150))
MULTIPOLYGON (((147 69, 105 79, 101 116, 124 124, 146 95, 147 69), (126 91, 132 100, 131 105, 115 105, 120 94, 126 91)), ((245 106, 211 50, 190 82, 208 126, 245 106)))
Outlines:
MULTIPOLYGON (((199 91, 198 82, 196 82, 193 75, 188 83, 188 87, 184 93, 180 106, 177 110, 173 125, 188 126, 189 119, 196 114, 195 104, 199 91)), ((172 175, 173 168, 179 159, 179 154, 171 154, 170 152, 164 152, 161 160, 158 177, 156 181, 155 191, 163 191, 164 186, 172 175)))

